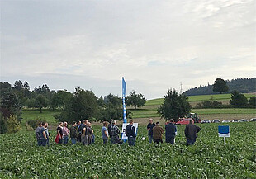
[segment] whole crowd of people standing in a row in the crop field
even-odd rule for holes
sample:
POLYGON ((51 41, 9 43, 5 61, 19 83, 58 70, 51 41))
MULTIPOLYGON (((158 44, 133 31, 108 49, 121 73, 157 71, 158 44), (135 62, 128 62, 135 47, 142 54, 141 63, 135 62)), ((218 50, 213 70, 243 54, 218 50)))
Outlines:
MULTIPOLYGON (((129 125, 126 125, 125 134, 130 146, 135 145, 136 130, 133 125, 134 121, 130 120, 129 125)), ((174 120, 169 120, 165 125, 165 142, 169 144, 175 143, 175 136, 177 135, 177 127, 173 124, 174 120)), ((123 144, 123 140, 120 138, 121 130, 116 125, 116 120, 111 120, 108 124, 104 121, 102 126, 102 142, 103 144, 123 144)), ((163 143, 164 129, 159 125, 159 122, 154 124, 153 119, 149 119, 149 124, 147 125, 149 143, 154 142, 155 144, 163 143)), ((189 125, 186 125, 185 136, 187 138, 187 145, 194 144, 197 139, 197 133, 200 131, 200 127, 193 125, 192 120, 189 125)), ((42 122, 36 128, 36 139, 39 146, 49 145, 48 123, 42 122)), ((95 136, 92 130, 92 124, 88 120, 72 122, 70 128, 68 128, 67 122, 60 122, 57 127, 57 134, 55 137, 55 142, 57 144, 68 144, 69 136, 71 139, 71 144, 81 143, 83 145, 93 144, 95 141, 95 136)))

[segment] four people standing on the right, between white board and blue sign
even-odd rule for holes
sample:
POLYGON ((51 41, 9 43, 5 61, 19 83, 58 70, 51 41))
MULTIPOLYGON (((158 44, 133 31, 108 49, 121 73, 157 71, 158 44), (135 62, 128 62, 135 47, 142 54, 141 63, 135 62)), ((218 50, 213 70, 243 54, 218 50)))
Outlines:
MULTIPOLYGON (((159 125, 159 122, 154 124, 153 119, 149 119, 149 124, 147 125, 147 130, 149 131, 149 143, 159 144, 163 143, 164 129, 159 125)), ((190 120, 189 124, 185 128, 185 137, 187 139, 187 145, 195 144, 197 139, 197 133, 201 130, 197 125, 193 125, 193 121, 190 120)), ((177 135, 177 127, 174 125, 174 120, 171 119, 165 125, 165 142, 174 144, 175 136, 177 135)))

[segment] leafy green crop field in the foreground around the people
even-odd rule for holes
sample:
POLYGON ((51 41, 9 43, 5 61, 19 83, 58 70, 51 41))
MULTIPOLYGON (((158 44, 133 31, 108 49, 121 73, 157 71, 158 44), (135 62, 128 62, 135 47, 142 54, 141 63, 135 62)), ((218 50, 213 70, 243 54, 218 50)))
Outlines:
POLYGON ((37 147, 34 132, 0 135, 0 178, 256 178, 256 123, 230 125, 227 144, 218 137, 217 124, 201 124, 197 143, 187 147, 184 125, 178 125, 175 145, 155 147, 145 127, 139 128, 135 147, 104 146, 100 127, 96 144, 54 144, 37 147))

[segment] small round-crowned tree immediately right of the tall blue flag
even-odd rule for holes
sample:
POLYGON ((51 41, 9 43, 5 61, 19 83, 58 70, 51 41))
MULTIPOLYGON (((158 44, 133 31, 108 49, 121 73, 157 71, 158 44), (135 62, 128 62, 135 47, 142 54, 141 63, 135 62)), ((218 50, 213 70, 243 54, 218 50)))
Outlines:
POLYGON ((140 106, 145 105, 145 97, 141 93, 136 94, 135 90, 130 92, 130 95, 126 97, 126 105, 127 106, 134 106, 135 109, 140 106))

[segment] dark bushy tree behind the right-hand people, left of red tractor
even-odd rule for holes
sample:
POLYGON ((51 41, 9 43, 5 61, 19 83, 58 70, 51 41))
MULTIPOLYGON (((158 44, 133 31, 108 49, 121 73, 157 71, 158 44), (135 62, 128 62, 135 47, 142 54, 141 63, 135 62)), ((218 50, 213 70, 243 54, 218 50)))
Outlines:
POLYGON ((187 101, 187 97, 179 95, 178 92, 173 89, 169 89, 167 95, 164 96, 164 103, 159 105, 158 113, 161 118, 165 120, 174 119, 178 120, 180 117, 184 117, 191 111, 191 106, 187 101))

